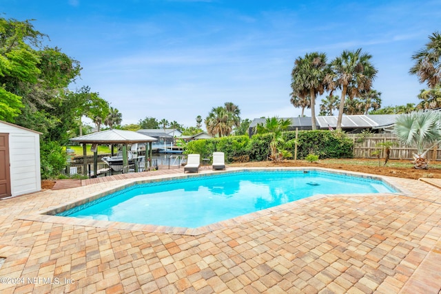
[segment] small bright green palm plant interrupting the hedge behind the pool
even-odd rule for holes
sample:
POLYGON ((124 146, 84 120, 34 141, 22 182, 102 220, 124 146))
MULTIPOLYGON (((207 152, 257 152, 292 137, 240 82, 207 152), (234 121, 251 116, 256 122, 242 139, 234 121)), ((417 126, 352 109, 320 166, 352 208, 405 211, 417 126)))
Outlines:
POLYGON ((288 129, 291 125, 291 120, 289 118, 277 118, 276 116, 267 118, 265 120, 265 125, 263 123, 258 123, 256 126, 257 134, 271 134, 271 142, 269 143, 269 148, 271 149, 271 154, 269 158, 276 162, 283 160, 283 158, 291 158, 291 152, 287 151, 288 148, 292 148, 293 145, 298 144, 298 141, 291 139, 286 141, 283 138, 283 132, 288 129))

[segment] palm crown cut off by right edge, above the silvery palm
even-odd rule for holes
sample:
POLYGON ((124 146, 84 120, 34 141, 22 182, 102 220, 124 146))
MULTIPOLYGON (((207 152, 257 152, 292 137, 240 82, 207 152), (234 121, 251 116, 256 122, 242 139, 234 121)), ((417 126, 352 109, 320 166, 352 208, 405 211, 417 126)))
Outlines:
POLYGON ((412 55, 415 64, 409 74, 416 74, 420 83, 427 82, 430 88, 441 83, 441 34, 434 32, 429 36, 426 48, 412 55))

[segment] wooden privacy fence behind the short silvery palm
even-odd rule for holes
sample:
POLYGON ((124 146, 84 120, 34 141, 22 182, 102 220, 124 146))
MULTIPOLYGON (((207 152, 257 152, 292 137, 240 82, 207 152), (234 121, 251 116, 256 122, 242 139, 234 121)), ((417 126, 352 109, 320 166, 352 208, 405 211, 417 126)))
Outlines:
MULTIPOLYGON (((391 147, 391 159, 413 159, 416 148, 406 146, 400 143, 394 134, 347 134, 353 140, 353 157, 354 158, 377 158, 372 155, 373 151, 381 150, 381 157, 384 157, 382 147, 376 147, 378 143, 391 141, 396 143, 391 147)), ((441 143, 433 147, 427 152, 426 156, 429 160, 441 160, 441 143)))

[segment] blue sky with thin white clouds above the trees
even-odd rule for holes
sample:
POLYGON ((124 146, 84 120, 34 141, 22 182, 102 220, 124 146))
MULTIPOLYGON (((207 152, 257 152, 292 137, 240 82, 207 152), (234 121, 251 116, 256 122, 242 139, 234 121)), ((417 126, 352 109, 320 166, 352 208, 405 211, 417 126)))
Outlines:
POLYGON ((242 118, 298 116, 291 70, 316 51, 331 61, 362 48, 383 106, 418 103, 426 85, 408 74, 411 55, 441 23, 441 1, 409 0, 0 0, 0 12, 35 19, 48 45, 81 62, 70 88, 99 92, 123 124, 151 116, 186 127, 225 102, 242 118))

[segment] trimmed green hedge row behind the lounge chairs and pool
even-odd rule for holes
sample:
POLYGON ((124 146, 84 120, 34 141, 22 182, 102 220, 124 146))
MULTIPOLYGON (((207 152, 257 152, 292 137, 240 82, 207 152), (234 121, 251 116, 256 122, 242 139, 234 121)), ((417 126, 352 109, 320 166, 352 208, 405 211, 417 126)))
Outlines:
MULTIPOLYGON (((296 138, 296 132, 284 132, 285 140, 296 138)), ((248 136, 228 136, 207 140, 189 142, 186 154, 201 154, 206 158, 214 151, 225 153, 225 160, 232 162, 242 156, 249 156, 249 160, 267 160, 271 134, 256 134, 250 139, 248 136)), ((345 133, 334 131, 299 131, 297 158, 304 159, 308 154, 316 154, 320 158, 352 158, 353 142, 345 133)), ((294 149, 290 150, 294 155, 294 149)))

